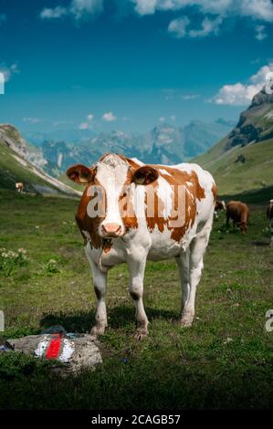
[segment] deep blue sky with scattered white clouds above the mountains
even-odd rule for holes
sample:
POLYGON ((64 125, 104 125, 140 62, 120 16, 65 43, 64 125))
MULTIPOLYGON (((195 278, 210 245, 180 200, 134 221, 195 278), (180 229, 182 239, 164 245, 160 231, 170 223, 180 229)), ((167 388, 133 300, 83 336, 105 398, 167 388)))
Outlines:
POLYGON ((236 120, 273 69, 271 0, 0 0, 0 122, 236 120))

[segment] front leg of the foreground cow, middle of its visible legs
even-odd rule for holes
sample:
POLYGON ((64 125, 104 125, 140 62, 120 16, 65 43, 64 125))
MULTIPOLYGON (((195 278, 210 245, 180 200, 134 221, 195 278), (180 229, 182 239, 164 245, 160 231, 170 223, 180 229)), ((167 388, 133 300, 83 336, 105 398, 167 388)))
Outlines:
POLYGON ((145 253, 139 255, 137 258, 130 258, 128 260, 128 267, 130 272, 129 291, 131 298, 134 300, 136 306, 136 320, 138 328, 135 333, 135 338, 142 340, 148 335, 148 319, 143 305, 143 280, 146 266, 145 253))

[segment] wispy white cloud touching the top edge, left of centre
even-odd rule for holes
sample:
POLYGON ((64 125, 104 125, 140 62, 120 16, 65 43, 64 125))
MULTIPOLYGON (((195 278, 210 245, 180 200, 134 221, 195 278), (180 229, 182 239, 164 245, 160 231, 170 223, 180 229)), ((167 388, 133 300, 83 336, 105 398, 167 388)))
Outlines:
POLYGON ((100 14, 103 10, 103 0, 71 0, 68 6, 45 7, 41 19, 58 19, 70 16, 76 21, 89 16, 100 14))

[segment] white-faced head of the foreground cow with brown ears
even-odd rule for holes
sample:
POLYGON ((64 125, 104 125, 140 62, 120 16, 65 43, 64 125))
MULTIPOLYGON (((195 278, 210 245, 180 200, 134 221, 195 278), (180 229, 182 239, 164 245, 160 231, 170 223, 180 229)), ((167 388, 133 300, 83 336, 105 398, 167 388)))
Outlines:
POLYGON ((67 171, 69 179, 87 185, 88 191, 92 191, 92 186, 100 188, 104 214, 100 216, 98 233, 102 237, 126 234, 128 225, 124 206, 127 210, 131 189, 135 185, 148 185, 158 178, 159 173, 151 166, 139 167, 129 161, 121 155, 108 153, 93 167, 77 164, 67 171))

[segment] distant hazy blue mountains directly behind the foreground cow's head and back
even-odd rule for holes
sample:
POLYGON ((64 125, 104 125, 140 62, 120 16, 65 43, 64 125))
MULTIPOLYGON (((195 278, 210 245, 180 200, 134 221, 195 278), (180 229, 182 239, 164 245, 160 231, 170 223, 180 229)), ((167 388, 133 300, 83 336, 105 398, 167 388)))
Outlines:
POLYGON ((36 138, 36 143, 38 142, 40 156, 47 160, 44 170, 58 177, 71 164, 91 165, 105 152, 121 152, 150 163, 173 164, 188 161, 205 152, 230 130, 231 125, 225 120, 214 123, 194 120, 184 128, 163 123, 143 134, 111 131, 89 135, 89 138, 80 141, 47 138, 38 142, 36 138))

